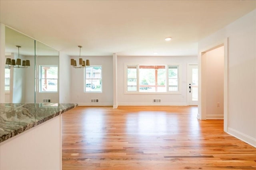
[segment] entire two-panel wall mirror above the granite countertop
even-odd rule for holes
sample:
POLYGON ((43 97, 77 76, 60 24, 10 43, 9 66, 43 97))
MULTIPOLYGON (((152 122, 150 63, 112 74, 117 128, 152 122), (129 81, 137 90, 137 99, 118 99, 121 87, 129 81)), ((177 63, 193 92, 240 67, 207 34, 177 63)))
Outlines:
POLYGON ((59 52, 9 27, 5 36, 5 102, 58 103, 59 52))

